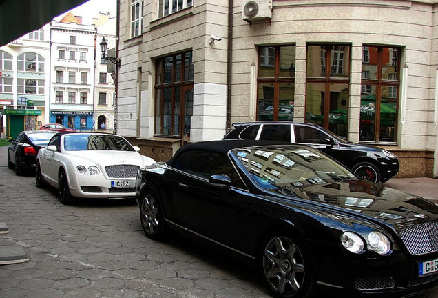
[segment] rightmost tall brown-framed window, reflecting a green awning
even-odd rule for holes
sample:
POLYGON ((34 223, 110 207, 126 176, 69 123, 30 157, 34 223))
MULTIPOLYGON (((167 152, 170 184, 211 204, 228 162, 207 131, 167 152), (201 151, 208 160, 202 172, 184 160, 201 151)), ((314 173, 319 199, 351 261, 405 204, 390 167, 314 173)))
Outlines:
POLYGON ((359 140, 373 143, 394 143, 397 136, 397 109, 399 105, 400 48, 364 46, 368 48, 369 62, 362 62, 362 92, 360 103, 359 140))

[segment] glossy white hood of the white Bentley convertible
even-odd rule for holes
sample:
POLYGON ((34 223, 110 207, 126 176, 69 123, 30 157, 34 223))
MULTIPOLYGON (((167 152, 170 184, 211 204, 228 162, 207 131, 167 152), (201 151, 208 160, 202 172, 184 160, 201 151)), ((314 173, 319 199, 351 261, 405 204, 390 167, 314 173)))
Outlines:
MULTIPOLYGON (((77 162, 88 161, 91 164, 102 166, 111 166, 118 164, 136 165, 143 168, 154 163, 154 159, 140 155, 136 151, 103 151, 103 150, 90 150, 90 151, 70 151, 68 155, 74 157, 77 162)), ((84 165, 85 166, 85 165, 84 165)))

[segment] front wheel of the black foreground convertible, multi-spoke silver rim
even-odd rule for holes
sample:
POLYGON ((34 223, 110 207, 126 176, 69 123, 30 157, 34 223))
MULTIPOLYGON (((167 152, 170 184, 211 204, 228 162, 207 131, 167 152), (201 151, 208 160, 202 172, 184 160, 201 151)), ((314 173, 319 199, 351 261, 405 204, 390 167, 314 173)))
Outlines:
POLYGON ((260 252, 262 277, 275 297, 312 297, 313 270, 304 245, 286 232, 267 237, 260 252))

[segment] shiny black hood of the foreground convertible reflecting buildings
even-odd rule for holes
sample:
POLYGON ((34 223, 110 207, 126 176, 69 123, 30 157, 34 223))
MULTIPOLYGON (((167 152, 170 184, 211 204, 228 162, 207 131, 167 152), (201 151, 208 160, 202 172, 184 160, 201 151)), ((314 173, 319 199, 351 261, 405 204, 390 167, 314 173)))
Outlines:
POLYGON ((324 207, 330 213, 348 213, 376 224, 388 224, 395 230, 438 220, 438 206, 432 201, 365 180, 300 187, 284 185, 269 192, 281 196, 285 204, 296 203, 291 199, 295 197, 324 207), (284 200, 285 195, 289 199, 284 200))

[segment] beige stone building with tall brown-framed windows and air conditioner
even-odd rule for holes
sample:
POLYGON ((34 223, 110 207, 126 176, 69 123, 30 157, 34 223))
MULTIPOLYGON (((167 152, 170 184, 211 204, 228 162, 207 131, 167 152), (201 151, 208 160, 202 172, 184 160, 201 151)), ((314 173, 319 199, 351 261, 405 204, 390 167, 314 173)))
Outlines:
POLYGON ((156 160, 312 122, 438 175, 438 1, 119 0, 116 131, 156 160), (255 9, 254 9, 255 8, 255 9), (434 157, 435 155, 435 157, 434 157))

